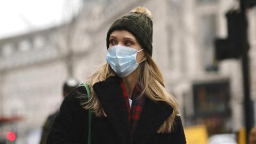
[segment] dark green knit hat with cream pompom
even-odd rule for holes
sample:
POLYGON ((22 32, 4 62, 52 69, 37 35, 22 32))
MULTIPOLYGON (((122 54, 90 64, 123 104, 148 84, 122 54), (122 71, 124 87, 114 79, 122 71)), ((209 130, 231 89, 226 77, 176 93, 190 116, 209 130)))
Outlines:
POLYGON ((153 21, 151 12, 146 7, 135 7, 130 13, 118 18, 110 26, 107 33, 107 48, 109 36, 114 30, 127 30, 133 34, 142 46, 142 49, 152 56, 153 21))

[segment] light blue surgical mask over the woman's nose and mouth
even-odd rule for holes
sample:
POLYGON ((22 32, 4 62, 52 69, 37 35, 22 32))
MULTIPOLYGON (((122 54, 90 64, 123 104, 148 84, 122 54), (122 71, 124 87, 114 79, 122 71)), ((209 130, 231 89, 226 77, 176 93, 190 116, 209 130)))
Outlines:
POLYGON ((135 49, 131 49, 130 47, 115 45, 108 49, 106 59, 110 67, 116 72, 119 77, 126 77, 139 66, 136 57, 137 53, 142 50, 143 49, 137 51, 135 49))

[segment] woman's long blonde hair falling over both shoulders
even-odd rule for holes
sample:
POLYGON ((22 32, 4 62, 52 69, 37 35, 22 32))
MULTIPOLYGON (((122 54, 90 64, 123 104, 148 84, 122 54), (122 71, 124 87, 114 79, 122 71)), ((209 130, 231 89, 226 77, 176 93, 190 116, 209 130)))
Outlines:
MULTIPOLYGON (((165 101, 170 106, 172 106, 173 113, 157 130, 157 133, 170 133, 173 129, 174 118, 176 115, 178 115, 178 103, 173 95, 166 91, 163 76, 155 61, 147 53, 146 57, 147 60, 140 64, 141 66, 138 77, 138 87, 141 88, 140 97, 145 94, 149 99, 153 101, 165 101)), ((95 115, 98 117, 107 117, 107 115, 102 109, 97 95, 93 92, 92 86, 95 83, 105 81, 106 78, 114 75, 115 72, 109 67, 107 62, 105 65, 95 70, 94 73, 89 78, 87 78, 86 84, 89 85, 92 91, 92 97, 91 99, 82 102, 81 104, 85 109, 91 109, 93 113, 95 113, 95 115)))

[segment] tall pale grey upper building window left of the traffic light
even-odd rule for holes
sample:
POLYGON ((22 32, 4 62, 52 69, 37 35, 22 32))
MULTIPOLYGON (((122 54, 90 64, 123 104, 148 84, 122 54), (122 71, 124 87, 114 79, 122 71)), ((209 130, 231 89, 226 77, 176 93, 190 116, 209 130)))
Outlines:
POLYGON ((198 34, 201 36, 203 65, 206 71, 215 71, 214 39, 216 37, 217 22, 214 14, 203 15, 199 24, 198 34))

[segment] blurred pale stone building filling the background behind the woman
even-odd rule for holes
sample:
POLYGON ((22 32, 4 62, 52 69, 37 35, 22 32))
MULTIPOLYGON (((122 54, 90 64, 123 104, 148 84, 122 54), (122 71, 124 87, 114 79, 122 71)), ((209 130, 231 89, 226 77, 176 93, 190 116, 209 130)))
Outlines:
MULTIPOLYGON (((0 39, 0 115, 24 118, 17 128, 20 143, 59 108, 68 76, 83 81, 106 61, 108 28, 138 5, 153 13, 153 58, 178 99, 184 124, 204 123, 211 134, 243 127, 241 60, 217 62, 213 45, 215 37, 227 36, 225 13, 235 0, 85 1, 70 23, 0 39)), ((256 8, 248 16, 255 103, 256 8)))

